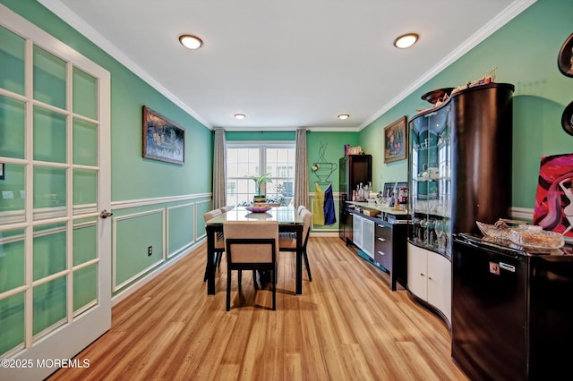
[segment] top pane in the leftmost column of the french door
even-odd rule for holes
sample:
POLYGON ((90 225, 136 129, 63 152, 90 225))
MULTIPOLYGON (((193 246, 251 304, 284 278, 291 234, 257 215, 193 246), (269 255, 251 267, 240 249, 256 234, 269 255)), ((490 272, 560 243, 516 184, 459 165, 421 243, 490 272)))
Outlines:
POLYGON ((0 88, 24 94, 25 40, 0 27, 0 88))

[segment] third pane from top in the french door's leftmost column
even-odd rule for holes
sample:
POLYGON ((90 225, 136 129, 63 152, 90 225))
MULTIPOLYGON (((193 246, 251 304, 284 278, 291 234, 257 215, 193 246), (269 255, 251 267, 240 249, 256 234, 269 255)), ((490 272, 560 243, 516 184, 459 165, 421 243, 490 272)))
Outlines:
POLYGON ((4 164, 4 180, 0 181, 0 224, 21 223, 24 215, 24 166, 4 164))

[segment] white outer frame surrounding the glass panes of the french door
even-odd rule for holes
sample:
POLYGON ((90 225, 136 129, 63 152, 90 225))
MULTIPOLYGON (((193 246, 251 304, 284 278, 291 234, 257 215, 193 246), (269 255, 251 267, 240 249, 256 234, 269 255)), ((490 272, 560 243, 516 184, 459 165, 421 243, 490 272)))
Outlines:
MULTIPOLYGON (((26 364, 30 367, 0 367, 0 378, 3 379, 43 379, 60 368, 62 364, 60 363, 58 366, 57 361, 73 359, 77 353, 111 327, 112 221, 111 218, 99 217, 102 210, 111 210, 111 74, 45 30, 41 30, 19 14, 14 13, 4 4, 0 4, 0 25, 26 39, 27 55, 30 55, 32 47, 36 45, 63 58, 66 62, 72 63, 74 67, 89 73, 98 81, 98 207, 94 212, 94 216, 98 220, 97 305, 75 318, 73 314, 68 312, 67 321, 63 326, 58 327, 54 332, 47 334, 33 344, 31 343, 31 334, 25 334, 25 348, 14 354, 10 360, 19 360, 13 361, 14 365, 26 364), (40 367, 37 359, 46 360, 43 364, 52 366, 40 367)), ((30 84, 26 83, 26 86, 29 87, 30 84)), ((31 107, 27 107, 27 110, 26 118, 28 119, 31 115, 31 107)), ((68 202, 73 202, 73 200, 68 200, 68 202)), ((30 202, 27 205, 30 205, 30 202)), ((29 224, 31 224, 30 221, 29 224)), ((30 283, 27 282, 27 284, 30 283)), ((30 314, 27 315, 24 320, 31 320, 30 314)), ((78 365, 85 366, 85 363, 80 361, 78 365)))

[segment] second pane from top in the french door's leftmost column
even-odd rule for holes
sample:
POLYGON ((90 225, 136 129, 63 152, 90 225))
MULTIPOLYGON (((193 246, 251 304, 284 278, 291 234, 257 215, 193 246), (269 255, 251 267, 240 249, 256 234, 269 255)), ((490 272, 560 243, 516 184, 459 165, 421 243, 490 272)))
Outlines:
POLYGON ((24 114, 23 102, 0 96, 0 157, 24 158, 24 114))

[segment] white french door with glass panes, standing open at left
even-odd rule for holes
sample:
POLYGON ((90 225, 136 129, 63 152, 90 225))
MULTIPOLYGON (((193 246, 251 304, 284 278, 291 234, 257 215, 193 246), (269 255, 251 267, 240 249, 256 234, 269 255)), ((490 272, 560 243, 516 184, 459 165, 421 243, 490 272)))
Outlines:
POLYGON ((0 379, 111 326, 109 140, 109 72, 0 4, 0 379))

